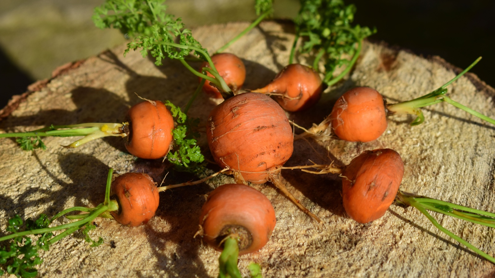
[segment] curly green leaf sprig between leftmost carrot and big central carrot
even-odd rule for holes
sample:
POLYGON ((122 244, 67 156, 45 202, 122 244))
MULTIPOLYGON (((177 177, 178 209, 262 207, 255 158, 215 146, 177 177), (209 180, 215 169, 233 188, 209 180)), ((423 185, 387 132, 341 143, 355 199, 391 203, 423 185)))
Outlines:
POLYGON ((204 156, 195 139, 199 137, 199 134, 191 130, 191 127, 198 126, 199 119, 189 119, 180 107, 168 100, 165 105, 170 107, 172 116, 176 118, 178 123, 178 126, 172 131, 176 148, 170 150, 167 159, 177 170, 194 173, 198 171, 201 162, 204 161, 204 156))

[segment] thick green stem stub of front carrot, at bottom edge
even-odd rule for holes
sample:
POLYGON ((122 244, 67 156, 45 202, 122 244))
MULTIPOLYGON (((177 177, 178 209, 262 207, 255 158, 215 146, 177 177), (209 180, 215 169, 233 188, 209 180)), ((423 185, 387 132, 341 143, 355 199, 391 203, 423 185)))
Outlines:
POLYGON ((237 268, 239 257, 239 245, 237 238, 228 236, 223 243, 223 251, 218 262, 220 264, 219 278, 241 278, 241 272, 237 268))

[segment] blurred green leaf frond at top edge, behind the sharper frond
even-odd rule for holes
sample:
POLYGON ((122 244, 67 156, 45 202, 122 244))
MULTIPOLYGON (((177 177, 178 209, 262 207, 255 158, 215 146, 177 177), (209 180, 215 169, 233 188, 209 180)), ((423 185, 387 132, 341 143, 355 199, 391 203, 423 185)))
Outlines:
POLYGON ((132 37, 149 35, 153 24, 172 19, 166 9, 163 0, 106 0, 95 8, 92 19, 100 29, 115 28, 132 37))

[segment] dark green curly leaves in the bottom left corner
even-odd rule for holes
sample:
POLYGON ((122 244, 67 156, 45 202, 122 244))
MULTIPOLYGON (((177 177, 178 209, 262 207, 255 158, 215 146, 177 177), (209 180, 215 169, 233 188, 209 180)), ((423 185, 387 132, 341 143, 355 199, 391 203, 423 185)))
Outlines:
MULTIPOLYGON (((19 215, 8 220, 7 231, 12 233, 21 232, 23 221, 19 215)), ((50 220, 45 214, 41 214, 37 220, 28 218, 25 224, 25 230, 35 230, 47 228, 50 220)), ((33 244, 32 239, 27 236, 14 237, 10 245, 0 248, 0 275, 4 272, 13 274, 17 277, 31 278, 38 275, 35 266, 43 262, 40 259, 38 250, 48 250, 48 240, 53 236, 51 232, 41 234, 33 244)))

